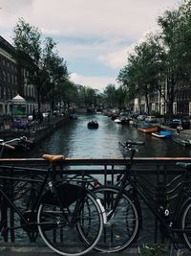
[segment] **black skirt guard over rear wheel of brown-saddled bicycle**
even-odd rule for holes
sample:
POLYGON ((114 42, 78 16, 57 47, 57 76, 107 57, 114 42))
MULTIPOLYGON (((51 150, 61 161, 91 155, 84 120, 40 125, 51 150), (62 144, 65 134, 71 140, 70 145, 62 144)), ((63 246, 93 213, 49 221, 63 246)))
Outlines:
POLYGON ((81 186, 61 183, 56 186, 55 191, 49 189, 41 198, 40 202, 45 204, 59 205, 59 200, 64 208, 82 199, 86 195, 86 189, 81 186))

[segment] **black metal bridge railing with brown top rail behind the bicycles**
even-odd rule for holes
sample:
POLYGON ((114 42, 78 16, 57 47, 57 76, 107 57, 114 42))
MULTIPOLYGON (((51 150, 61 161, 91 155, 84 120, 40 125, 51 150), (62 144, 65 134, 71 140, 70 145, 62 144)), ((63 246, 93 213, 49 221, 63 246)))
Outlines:
MULTIPOLYGON (((176 166, 178 161, 191 162, 191 157, 149 157, 135 158, 132 171, 141 178, 151 191, 153 197, 160 202, 164 198, 170 201, 173 209, 173 202, 177 197, 181 176, 184 170, 176 166), (165 188, 165 190, 163 190, 165 188), (165 191, 165 195, 164 195, 165 191)), ((92 159, 92 158, 67 158, 64 165, 57 166, 58 174, 64 175, 93 175, 102 184, 116 184, 117 175, 124 173, 126 160, 119 158, 92 159)), ((36 187, 33 179, 38 179, 46 174, 49 163, 41 158, 29 159, 0 159, 0 182, 9 196, 19 204, 21 211, 30 209, 35 201, 36 187), (7 168, 1 168, 7 166, 7 168), (2 178, 4 176, 4 178, 2 178), (9 177, 9 178, 6 178, 9 177), (19 180, 18 180, 19 178, 19 180), (26 208, 27 206, 27 208, 26 208)), ((143 224, 138 243, 160 243, 164 236, 160 232, 159 222, 141 203, 143 224)), ((38 241, 37 230, 8 229, 20 223, 20 218, 14 210, 1 198, 1 222, 2 242, 28 243, 38 241)))

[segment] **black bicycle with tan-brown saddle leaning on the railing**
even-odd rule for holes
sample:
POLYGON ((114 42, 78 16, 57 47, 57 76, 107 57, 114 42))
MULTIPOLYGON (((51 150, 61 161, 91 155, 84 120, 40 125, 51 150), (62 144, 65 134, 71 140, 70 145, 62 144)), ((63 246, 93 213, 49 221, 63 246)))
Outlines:
MULTIPOLYGON (((21 180, 38 184, 38 193, 32 208, 22 212, 0 185, 0 197, 17 213, 20 224, 5 227, 1 221, 1 229, 22 228, 27 232, 39 232, 42 240, 54 252, 60 255, 80 256, 92 250, 98 242, 105 221, 104 209, 95 195, 87 189, 87 183, 80 185, 57 178, 57 165, 64 163, 64 155, 44 154, 42 157, 49 164, 48 170, 26 167, 11 167, 29 172, 44 172, 44 178, 10 177, 5 175, 8 166, 0 165, 0 179, 21 180)), ((59 176, 61 174, 59 173, 59 176)))

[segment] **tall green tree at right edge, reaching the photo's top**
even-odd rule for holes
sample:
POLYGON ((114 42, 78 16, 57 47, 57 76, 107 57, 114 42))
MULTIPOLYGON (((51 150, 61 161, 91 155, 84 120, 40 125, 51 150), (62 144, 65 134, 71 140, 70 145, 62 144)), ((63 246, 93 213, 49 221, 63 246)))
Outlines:
POLYGON ((191 67, 191 1, 183 1, 177 10, 166 11, 159 16, 160 37, 163 40, 166 77, 167 118, 172 119, 173 104, 180 84, 189 84, 191 67))

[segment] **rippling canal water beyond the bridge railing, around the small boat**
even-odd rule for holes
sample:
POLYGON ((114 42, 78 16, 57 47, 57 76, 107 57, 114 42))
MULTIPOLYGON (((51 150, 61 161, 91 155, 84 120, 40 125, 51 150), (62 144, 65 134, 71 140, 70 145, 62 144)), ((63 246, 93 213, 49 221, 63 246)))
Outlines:
POLYGON ((27 157, 40 157, 42 153, 65 154, 67 157, 112 158, 121 157, 118 141, 144 141, 138 147, 137 156, 191 156, 191 150, 172 139, 159 139, 138 131, 132 125, 115 124, 103 115, 79 115, 76 120, 67 120, 53 134, 43 139, 27 157), (87 123, 96 119, 97 129, 87 128, 87 123))

